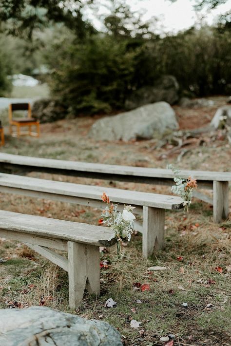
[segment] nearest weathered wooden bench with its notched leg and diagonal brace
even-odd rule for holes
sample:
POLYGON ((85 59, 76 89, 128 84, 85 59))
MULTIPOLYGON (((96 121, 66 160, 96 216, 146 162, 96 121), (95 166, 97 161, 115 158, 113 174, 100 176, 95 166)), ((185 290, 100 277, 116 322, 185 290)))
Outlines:
POLYGON ((0 211, 0 237, 26 244, 68 272, 70 308, 81 304, 85 288, 99 295, 99 247, 114 245, 112 234, 108 227, 0 211))

